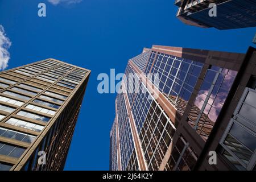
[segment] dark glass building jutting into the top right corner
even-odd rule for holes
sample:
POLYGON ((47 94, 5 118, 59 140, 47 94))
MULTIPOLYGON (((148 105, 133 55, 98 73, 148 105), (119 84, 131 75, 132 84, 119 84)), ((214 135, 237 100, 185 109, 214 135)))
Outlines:
POLYGON ((175 5, 177 18, 192 26, 219 30, 256 26, 255 0, 175 0, 175 5), (209 15, 210 3, 216 5, 216 16, 209 15))

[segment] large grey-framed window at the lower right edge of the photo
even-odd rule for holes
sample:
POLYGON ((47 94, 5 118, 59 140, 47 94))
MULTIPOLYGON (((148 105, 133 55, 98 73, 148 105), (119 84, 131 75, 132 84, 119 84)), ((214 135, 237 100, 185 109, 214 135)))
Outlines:
POLYGON ((256 162, 256 90, 245 88, 222 136, 221 154, 240 170, 252 170, 256 162))

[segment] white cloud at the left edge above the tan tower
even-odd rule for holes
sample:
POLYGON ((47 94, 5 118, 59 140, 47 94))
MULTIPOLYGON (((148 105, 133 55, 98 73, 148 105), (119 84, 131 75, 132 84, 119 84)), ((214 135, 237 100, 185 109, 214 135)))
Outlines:
POLYGON ((7 68, 10 53, 7 51, 11 46, 11 41, 6 37, 5 29, 0 24, 0 70, 7 68))

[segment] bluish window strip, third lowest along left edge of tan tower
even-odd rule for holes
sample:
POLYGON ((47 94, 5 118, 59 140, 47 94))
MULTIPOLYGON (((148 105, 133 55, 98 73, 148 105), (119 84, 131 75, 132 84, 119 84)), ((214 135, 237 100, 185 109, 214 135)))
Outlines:
POLYGON ((3 127, 0 127, 0 137, 15 139, 26 143, 32 143, 35 140, 35 136, 20 133, 14 130, 8 130, 3 127))

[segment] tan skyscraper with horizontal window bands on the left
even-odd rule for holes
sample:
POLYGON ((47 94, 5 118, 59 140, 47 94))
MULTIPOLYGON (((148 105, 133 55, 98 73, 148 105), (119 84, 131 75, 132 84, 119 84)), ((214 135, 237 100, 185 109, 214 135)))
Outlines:
POLYGON ((64 168, 89 75, 55 59, 0 73, 0 170, 64 168))

